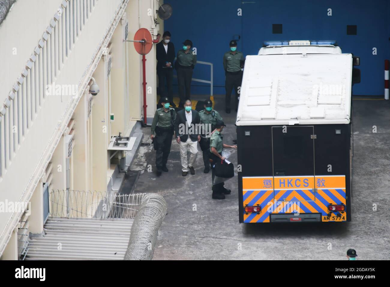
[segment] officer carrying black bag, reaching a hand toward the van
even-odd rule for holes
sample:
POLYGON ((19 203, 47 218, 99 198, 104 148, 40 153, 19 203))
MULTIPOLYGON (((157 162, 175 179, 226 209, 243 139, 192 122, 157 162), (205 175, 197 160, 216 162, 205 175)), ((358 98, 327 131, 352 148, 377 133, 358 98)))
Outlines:
POLYGON ((217 160, 225 160, 225 157, 222 156, 223 148, 237 148, 237 146, 229 146, 223 143, 223 135, 221 134, 223 131, 223 127, 226 127, 223 121, 217 121, 215 131, 211 134, 210 138, 210 159, 213 161, 212 164, 212 172, 211 178, 213 180, 213 199, 225 199, 225 194, 230 194, 231 190, 223 187, 224 182, 215 182, 215 172, 214 172, 214 164, 217 160))

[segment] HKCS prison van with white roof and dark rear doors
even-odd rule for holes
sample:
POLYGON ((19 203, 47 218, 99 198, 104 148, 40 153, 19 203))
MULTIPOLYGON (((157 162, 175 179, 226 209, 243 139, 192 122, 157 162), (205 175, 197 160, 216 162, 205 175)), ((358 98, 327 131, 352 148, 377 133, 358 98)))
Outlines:
POLYGON ((245 59, 239 222, 351 221, 351 95, 360 62, 335 41, 269 41, 245 59))

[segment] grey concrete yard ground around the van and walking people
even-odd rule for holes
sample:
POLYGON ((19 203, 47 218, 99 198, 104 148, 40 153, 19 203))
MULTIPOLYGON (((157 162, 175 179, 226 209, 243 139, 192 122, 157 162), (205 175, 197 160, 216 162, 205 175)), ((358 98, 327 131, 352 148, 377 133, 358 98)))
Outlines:
MULTIPOLYGON (((236 113, 225 114, 223 96, 215 96, 215 101, 215 109, 227 125, 224 143, 233 144, 236 113)), ((240 224, 237 176, 226 182, 232 194, 225 200, 211 199, 211 172, 203 173, 200 148, 196 174, 183 177, 178 144, 173 139, 169 172, 157 177, 155 152, 147 145, 151 143, 150 127, 144 128, 143 145, 131 165, 133 173, 139 175, 134 192, 159 193, 168 204, 154 259, 346 260, 349 248, 357 251, 359 260, 389 259, 389 111, 389 101, 353 100, 352 222, 336 224, 240 224), (374 125, 376 133, 372 132, 374 125)), ((227 151, 236 166, 237 151, 227 151)), ((125 189, 128 186, 125 183, 125 189)))

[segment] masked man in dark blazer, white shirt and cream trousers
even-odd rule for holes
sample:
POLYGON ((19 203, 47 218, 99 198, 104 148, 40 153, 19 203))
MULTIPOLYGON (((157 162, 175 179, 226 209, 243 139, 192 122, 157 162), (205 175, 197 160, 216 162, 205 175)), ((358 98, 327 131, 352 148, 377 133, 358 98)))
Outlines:
POLYGON ((195 175, 193 165, 198 154, 198 142, 200 141, 200 116, 192 109, 192 103, 187 100, 184 109, 177 112, 175 121, 176 141, 180 145, 180 159, 182 174, 186 176, 188 170, 195 175), (190 150, 190 159, 187 160, 187 151, 190 150))

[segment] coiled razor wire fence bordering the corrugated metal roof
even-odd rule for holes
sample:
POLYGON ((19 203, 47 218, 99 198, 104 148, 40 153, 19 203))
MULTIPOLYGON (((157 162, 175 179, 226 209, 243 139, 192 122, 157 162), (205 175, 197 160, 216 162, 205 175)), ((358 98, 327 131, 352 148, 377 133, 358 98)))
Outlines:
POLYGON ((158 230, 167 212, 160 194, 112 194, 98 191, 50 191, 50 216, 134 219, 124 260, 151 260, 158 230))

